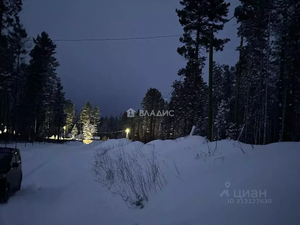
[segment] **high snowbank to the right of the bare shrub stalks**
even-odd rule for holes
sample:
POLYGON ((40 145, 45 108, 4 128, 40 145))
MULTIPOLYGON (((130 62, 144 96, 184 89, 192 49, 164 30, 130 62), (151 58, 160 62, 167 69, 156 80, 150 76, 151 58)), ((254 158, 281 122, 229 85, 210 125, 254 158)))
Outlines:
MULTIPOLYGON (((122 149, 111 149, 111 153, 134 154, 135 148, 130 143, 122 149)), ((134 218, 139 219, 133 222, 298 224, 299 150, 299 143, 252 147, 233 140, 210 143, 199 136, 141 144, 143 157, 151 158, 155 152, 167 185, 156 186, 156 191, 152 185, 149 201, 143 210, 134 212, 134 218), (220 197, 227 189, 229 197, 220 197), (279 218, 272 216, 279 212, 279 218)))

